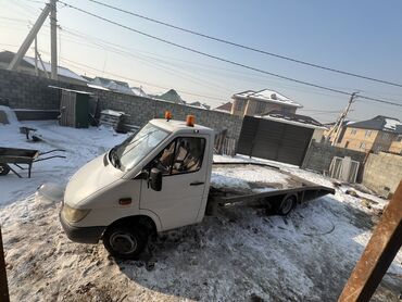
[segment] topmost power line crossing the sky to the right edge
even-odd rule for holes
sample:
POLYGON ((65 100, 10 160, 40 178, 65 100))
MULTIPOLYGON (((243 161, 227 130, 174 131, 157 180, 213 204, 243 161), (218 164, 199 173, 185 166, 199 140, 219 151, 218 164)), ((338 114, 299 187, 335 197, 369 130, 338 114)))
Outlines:
POLYGON ((216 37, 205 35, 205 34, 202 34, 202 33, 199 33, 199 32, 194 32, 194 30, 187 29, 187 28, 184 28, 184 27, 179 27, 179 26, 176 26, 176 25, 173 25, 173 24, 168 24, 168 23, 165 23, 165 22, 149 17, 149 16, 145 16, 145 15, 141 15, 141 14, 138 14, 138 13, 134 13, 134 12, 130 12, 130 11, 127 11, 127 10, 123 10, 123 9, 120 9, 120 8, 116 8, 116 7, 113 7, 113 5, 97 1, 97 0, 88 0, 88 1, 97 3, 99 5, 103 5, 105 8, 112 9, 112 10, 120 11, 122 13, 126 13, 126 14, 129 14, 129 15, 133 15, 133 16, 136 16, 136 17, 140 17, 142 20, 147 20, 147 21, 150 21, 150 22, 153 22, 153 23, 158 23, 160 25, 164 25, 164 26, 177 29, 177 30, 181 30, 181 32, 192 34, 192 35, 196 35, 196 36, 199 36, 199 37, 203 37, 203 38, 206 38, 206 39, 210 39, 210 40, 214 40, 214 41, 217 41, 217 42, 230 45, 230 46, 242 48, 242 49, 246 49, 246 50, 251 50, 253 52, 275 56, 275 58, 287 60, 287 61, 290 61, 290 62, 293 62, 293 63, 303 64, 303 65, 306 65, 306 66, 310 66, 310 67, 315 67, 315 68, 319 68, 319 70, 324 70, 324 71, 328 71, 328 72, 334 72, 334 73, 338 73, 338 74, 342 74, 342 75, 348 75, 348 76, 352 76, 352 77, 363 78, 363 79, 366 79, 366 80, 377 81, 377 83, 381 83, 381 84, 386 84, 386 85, 402 87, 402 84, 392 83, 392 81, 385 80, 385 79, 378 79, 378 78, 374 78, 374 77, 369 77, 369 76, 364 76, 364 75, 360 75, 360 74, 355 74, 355 73, 351 73, 351 72, 346 72, 346 71, 341 71, 341 70, 337 70, 337 68, 332 68, 332 67, 326 67, 326 66, 318 65, 318 64, 315 64, 315 63, 310 63, 310 62, 306 62, 306 61, 302 61, 302 60, 293 59, 293 58, 290 58, 290 56, 286 56, 286 55, 268 52, 268 51, 265 51, 265 50, 252 48, 252 47, 249 47, 249 46, 240 45, 240 43, 237 43, 237 42, 228 41, 228 40, 225 40, 225 39, 222 39, 222 38, 216 38, 216 37))

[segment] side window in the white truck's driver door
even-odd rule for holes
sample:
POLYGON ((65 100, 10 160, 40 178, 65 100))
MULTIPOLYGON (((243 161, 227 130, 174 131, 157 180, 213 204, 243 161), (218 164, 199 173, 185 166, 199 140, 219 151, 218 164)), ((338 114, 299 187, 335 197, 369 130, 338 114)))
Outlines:
POLYGON ((158 167, 163 175, 197 172, 201 168, 204 150, 204 138, 176 138, 152 161, 150 167, 158 167))

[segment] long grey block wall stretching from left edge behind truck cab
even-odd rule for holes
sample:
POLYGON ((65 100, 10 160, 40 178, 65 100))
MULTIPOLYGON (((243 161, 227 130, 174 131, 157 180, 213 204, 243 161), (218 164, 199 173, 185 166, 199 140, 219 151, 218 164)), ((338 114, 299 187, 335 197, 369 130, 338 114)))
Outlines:
POLYGON ((169 110, 173 118, 185 119, 188 114, 193 114, 196 115, 196 123, 211 127, 216 131, 227 129, 228 137, 231 138, 238 139, 240 136, 242 118, 228 113, 99 90, 0 70, 0 99, 3 102, 7 101, 12 109, 58 110, 60 108, 60 91, 49 88, 49 85, 92 92, 99 97, 100 110, 124 111, 128 114, 126 122, 136 126, 142 126, 153 117, 163 117, 164 112, 169 110))

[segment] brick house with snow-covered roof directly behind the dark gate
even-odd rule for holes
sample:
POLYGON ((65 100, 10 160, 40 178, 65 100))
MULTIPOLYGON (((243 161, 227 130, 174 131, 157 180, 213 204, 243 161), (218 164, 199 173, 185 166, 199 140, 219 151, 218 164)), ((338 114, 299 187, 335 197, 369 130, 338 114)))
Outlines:
POLYGON ((234 95, 233 100, 231 114, 238 116, 262 115, 269 111, 294 114, 298 109, 302 108, 300 103, 271 89, 242 91, 234 95))

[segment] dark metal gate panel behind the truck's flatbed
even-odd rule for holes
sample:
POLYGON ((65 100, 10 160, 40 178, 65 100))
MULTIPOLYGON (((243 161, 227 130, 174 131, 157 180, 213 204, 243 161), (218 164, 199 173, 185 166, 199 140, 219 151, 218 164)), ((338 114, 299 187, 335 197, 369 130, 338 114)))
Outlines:
POLYGON ((314 129, 244 116, 237 153, 301 165, 314 129))

